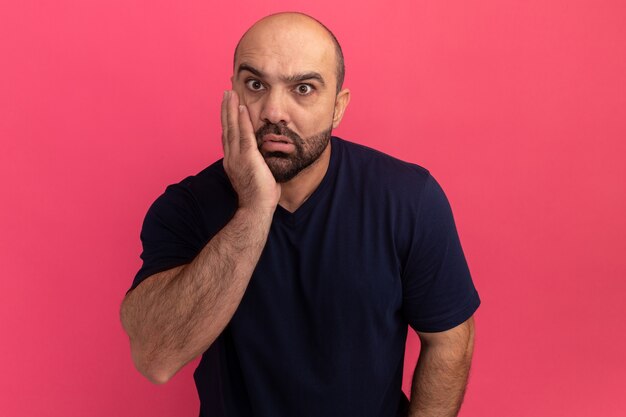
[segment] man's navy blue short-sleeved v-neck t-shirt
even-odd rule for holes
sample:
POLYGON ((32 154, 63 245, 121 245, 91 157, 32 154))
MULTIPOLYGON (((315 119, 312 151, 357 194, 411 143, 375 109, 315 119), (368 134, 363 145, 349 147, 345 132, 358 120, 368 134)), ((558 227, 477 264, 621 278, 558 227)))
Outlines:
MULTIPOLYGON (((231 219, 218 161, 169 186, 143 224, 133 287, 190 262, 231 219)), ((430 173, 333 137, 328 171, 278 206, 231 322, 194 378, 202 416, 400 416, 407 325, 448 330, 480 300, 430 173)))

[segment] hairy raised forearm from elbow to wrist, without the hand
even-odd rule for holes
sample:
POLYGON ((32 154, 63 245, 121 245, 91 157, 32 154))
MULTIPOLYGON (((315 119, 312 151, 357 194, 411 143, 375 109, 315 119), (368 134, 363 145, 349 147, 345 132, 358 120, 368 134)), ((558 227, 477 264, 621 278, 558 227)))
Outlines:
POLYGON ((127 295, 122 323, 146 377, 167 381, 219 336, 243 297, 272 214, 238 210, 191 263, 150 277, 127 295))

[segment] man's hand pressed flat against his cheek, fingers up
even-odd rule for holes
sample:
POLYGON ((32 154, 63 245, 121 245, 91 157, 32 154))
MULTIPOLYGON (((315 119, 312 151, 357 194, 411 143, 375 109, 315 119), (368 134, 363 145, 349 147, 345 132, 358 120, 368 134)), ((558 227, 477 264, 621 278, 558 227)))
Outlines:
POLYGON ((222 99, 224 170, 239 197, 239 208, 276 209, 280 185, 259 152, 248 109, 235 91, 222 99))

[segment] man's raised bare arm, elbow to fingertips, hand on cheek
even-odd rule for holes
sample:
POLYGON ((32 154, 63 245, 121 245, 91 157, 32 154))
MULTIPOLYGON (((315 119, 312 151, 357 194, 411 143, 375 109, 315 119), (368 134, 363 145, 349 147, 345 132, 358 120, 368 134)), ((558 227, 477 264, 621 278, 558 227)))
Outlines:
POLYGON ((280 198, 247 109, 234 92, 222 102, 222 129, 224 169, 239 208, 191 263, 152 275, 122 303, 135 366, 155 383, 168 381, 226 327, 261 256, 280 198))

